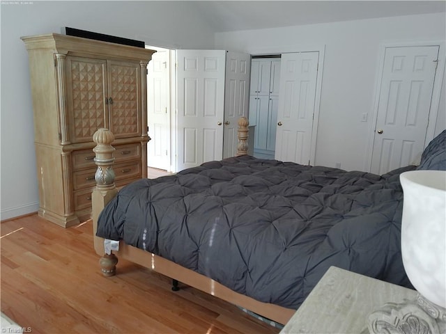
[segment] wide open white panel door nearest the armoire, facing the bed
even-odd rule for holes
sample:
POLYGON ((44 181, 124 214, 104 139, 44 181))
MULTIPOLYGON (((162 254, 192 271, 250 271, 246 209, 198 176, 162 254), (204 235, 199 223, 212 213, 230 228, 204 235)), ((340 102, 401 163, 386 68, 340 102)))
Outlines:
POLYGON ((177 169, 223 157, 226 51, 177 51, 177 169))

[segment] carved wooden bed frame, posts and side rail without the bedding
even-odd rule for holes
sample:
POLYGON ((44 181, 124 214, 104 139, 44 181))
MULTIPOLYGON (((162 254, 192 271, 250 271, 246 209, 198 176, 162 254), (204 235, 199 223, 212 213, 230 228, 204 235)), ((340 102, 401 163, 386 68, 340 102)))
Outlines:
MULTIPOLYGON (((247 138, 248 121, 243 117, 238 120, 237 156, 247 154, 247 138)), ((98 129, 93 135, 93 141, 97 144, 96 147, 93 148, 93 152, 95 152, 95 163, 98 165, 98 170, 95 174, 96 187, 92 194, 93 239, 96 253, 101 256, 103 255, 100 258, 100 266, 104 276, 115 275, 116 263, 118 262, 116 255, 118 255, 125 260, 137 263, 142 267, 146 267, 172 278, 174 280, 174 287, 172 287, 172 289, 174 290, 178 285, 178 281, 180 281, 185 285, 189 285, 223 299, 224 301, 238 305, 241 308, 246 308, 262 317, 276 321, 279 324, 286 324, 289 321, 295 310, 283 308, 282 306, 271 303, 262 303, 243 294, 238 294, 200 273, 181 267, 174 262, 166 260, 153 253, 149 253, 146 250, 126 245, 123 241, 119 242, 118 250, 114 250, 113 253, 111 252, 109 255, 105 254, 104 239, 96 237, 96 231, 100 212, 107 202, 112 200, 112 198, 116 196, 116 193, 118 193, 114 184, 114 148, 111 145, 112 141, 114 141, 114 136, 108 129, 98 129)))

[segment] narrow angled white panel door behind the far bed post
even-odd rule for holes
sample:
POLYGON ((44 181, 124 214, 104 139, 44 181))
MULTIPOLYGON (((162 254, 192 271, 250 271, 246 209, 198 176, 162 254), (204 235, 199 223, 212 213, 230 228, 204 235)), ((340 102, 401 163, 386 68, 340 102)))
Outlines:
POLYGON ((248 116, 249 77, 251 56, 238 52, 226 52, 226 88, 224 91, 223 157, 235 157, 237 153, 238 118, 248 116))

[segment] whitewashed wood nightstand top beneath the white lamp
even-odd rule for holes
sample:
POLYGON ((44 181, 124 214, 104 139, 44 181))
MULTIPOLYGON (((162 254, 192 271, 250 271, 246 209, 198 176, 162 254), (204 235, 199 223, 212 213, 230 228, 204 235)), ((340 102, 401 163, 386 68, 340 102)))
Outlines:
POLYGON ((417 295, 412 289, 330 267, 280 333, 369 333, 372 312, 417 295))

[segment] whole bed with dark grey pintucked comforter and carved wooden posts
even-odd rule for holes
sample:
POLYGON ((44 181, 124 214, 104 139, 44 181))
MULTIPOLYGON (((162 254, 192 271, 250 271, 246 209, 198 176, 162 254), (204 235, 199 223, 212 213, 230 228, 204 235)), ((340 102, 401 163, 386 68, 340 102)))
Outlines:
POLYGON ((399 174, 442 168, 445 137, 429 144, 420 166, 374 175, 251 157, 241 118, 236 157, 117 191, 113 136, 97 132, 93 227, 96 252, 107 253, 102 272, 114 274, 118 255, 279 324, 331 266, 410 287, 399 174))

